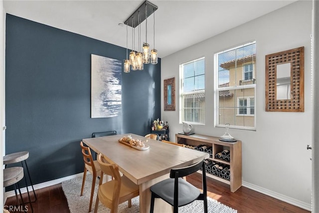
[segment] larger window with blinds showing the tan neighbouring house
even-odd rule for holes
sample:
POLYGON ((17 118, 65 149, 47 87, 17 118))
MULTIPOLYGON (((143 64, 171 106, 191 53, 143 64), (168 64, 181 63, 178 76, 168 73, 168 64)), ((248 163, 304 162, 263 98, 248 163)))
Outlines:
POLYGON ((215 54, 215 126, 256 127, 256 42, 215 54))

